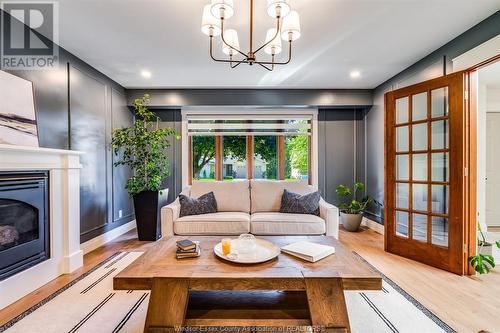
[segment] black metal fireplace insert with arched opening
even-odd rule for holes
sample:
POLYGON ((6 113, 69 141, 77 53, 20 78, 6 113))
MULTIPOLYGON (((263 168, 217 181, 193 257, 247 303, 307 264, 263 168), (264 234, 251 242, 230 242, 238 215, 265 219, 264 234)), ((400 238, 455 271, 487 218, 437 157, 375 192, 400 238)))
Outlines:
POLYGON ((0 172, 0 280, 50 255, 48 171, 0 172))

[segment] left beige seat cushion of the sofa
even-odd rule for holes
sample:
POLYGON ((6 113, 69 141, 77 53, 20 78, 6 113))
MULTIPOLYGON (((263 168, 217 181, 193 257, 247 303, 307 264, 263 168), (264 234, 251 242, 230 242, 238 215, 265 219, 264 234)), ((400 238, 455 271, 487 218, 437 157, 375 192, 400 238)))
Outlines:
POLYGON ((250 215, 220 212, 180 217, 174 221, 177 235, 240 235, 250 231, 250 215))

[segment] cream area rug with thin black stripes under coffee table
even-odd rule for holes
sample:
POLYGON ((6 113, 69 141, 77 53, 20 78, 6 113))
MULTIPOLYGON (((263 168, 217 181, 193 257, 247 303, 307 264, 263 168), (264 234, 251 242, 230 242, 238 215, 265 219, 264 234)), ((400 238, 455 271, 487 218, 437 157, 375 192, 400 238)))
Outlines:
MULTIPOLYGON (((8 333, 142 332, 149 292, 114 291, 113 276, 142 252, 117 252, 0 327, 8 333)), ((346 292, 353 332, 454 332, 394 282, 382 291, 346 292)))

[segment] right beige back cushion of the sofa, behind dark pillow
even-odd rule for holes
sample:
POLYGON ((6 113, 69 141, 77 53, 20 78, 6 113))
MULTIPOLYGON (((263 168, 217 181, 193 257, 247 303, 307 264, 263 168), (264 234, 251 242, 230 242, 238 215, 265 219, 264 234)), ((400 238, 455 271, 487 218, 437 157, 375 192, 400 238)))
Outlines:
POLYGON ((314 187, 307 184, 307 181, 252 180, 250 187, 252 213, 279 212, 281 196, 285 188, 298 194, 316 191, 314 187))

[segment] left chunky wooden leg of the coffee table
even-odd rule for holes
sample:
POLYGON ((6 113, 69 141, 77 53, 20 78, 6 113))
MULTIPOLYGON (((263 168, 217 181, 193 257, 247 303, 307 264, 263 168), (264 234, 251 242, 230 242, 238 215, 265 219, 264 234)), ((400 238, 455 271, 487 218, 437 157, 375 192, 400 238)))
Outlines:
POLYGON ((189 283, 184 279, 154 278, 144 332, 178 332, 184 324, 189 283))

